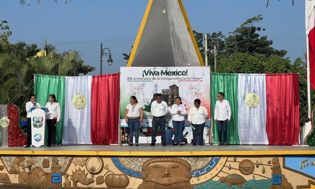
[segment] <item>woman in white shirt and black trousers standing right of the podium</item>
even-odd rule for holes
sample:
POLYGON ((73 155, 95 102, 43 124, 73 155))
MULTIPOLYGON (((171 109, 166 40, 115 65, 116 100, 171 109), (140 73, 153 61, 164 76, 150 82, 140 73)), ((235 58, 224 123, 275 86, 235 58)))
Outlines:
POLYGON ((60 105, 57 103, 55 94, 49 95, 49 102, 46 104, 46 108, 47 146, 54 147, 56 145, 56 128, 60 121, 60 105))

